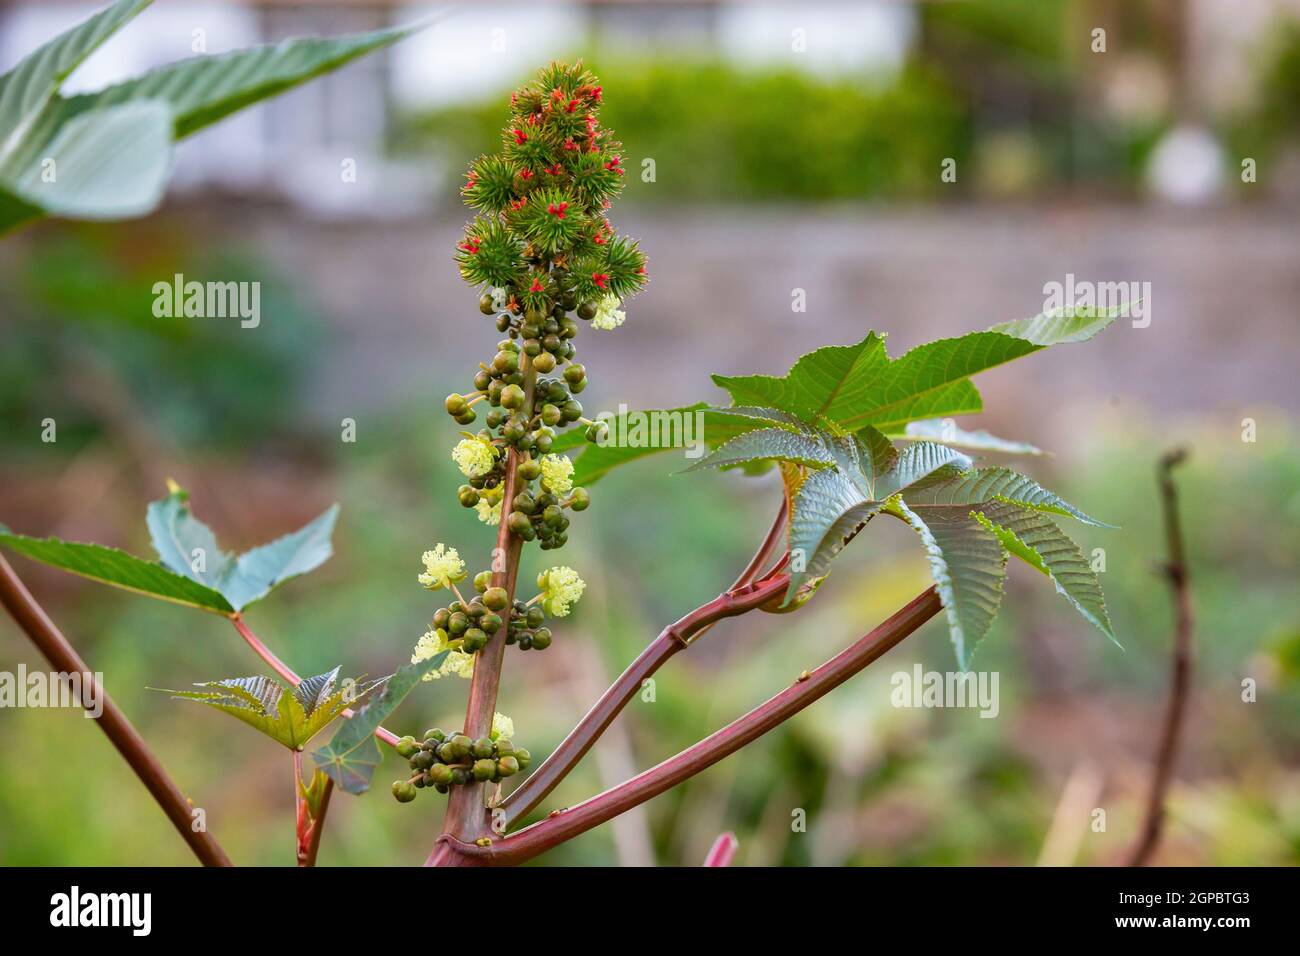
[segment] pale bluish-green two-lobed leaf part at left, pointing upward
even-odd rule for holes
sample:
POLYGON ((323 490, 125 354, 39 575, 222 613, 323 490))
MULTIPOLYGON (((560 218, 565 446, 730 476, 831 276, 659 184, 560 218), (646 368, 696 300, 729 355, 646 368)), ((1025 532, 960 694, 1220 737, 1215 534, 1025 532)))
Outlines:
POLYGON ((191 512, 182 490, 152 502, 146 522, 166 567, 221 592, 238 611, 290 578, 325 563, 333 554, 330 536, 337 518, 338 505, 333 505, 298 531, 238 558, 221 550, 212 529, 191 512))

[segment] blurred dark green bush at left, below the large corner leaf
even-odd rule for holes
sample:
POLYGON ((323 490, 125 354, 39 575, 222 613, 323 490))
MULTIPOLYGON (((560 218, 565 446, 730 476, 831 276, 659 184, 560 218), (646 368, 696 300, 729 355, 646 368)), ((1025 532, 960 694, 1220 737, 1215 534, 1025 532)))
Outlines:
MULTIPOLYGON (((74 454, 105 431, 179 447, 248 447, 292 431, 317 346, 299 290, 264 261, 165 226, 66 226, 5 263, 0 418, 58 425, 74 454), (153 315, 153 284, 173 276, 260 282, 256 328, 238 317, 153 315)), ((36 431, 5 429, 21 457, 36 431)))

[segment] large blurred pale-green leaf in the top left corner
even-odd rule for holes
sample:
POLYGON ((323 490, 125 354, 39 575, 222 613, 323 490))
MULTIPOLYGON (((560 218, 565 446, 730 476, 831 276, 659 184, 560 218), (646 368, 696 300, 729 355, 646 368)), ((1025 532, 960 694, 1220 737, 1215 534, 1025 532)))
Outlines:
POLYGON ((165 191, 174 139, 411 33, 196 56, 99 92, 61 96, 68 75, 148 3, 117 0, 0 77, 0 233, 47 215, 143 215, 165 191))

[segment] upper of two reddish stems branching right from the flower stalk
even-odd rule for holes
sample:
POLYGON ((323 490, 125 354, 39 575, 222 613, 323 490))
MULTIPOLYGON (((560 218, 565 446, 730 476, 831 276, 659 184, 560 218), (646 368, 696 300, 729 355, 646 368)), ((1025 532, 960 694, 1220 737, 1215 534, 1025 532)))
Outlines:
POLYGON ((586 756, 597 739, 614 722, 619 711, 637 695, 646 678, 659 670, 668 658, 688 646, 693 637, 703 633, 714 623, 767 604, 788 585, 789 578, 786 575, 760 584, 744 585, 740 589, 719 594, 708 604, 701 605, 660 631, 650 646, 641 652, 640 657, 623 671, 610 689, 601 695, 601 698, 560 741, 560 745, 502 801, 500 805, 506 810, 506 823, 514 823, 528 814, 559 786, 560 780, 586 756))

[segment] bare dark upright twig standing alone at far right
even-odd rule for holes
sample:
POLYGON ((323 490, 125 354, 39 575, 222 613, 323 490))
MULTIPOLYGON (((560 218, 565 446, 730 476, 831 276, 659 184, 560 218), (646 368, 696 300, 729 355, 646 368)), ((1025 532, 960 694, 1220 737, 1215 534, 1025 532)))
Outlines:
POLYGON ((1170 669, 1169 702, 1156 750, 1156 770, 1150 778, 1147 814, 1141 835, 1134 847, 1130 866, 1145 866, 1160 844, 1165 823, 1165 797, 1174 777, 1178 739, 1187 714, 1187 697, 1192 683, 1192 596, 1187 584, 1187 557, 1183 549, 1183 528, 1178 520, 1178 490, 1173 470, 1187 458, 1186 449, 1175 449, 1160 459, 1160 496, 1165 519, 1165 541, 1169 551, 1164 567, 1165 578, 1174 596, 1174 656, 1170 669))

